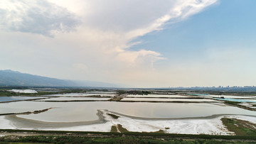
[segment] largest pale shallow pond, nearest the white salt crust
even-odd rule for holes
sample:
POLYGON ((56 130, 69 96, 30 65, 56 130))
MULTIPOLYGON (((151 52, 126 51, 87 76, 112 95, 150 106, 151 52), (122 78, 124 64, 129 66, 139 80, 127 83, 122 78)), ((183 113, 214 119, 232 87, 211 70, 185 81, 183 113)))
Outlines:
POLYGON ((20 101, 0 104, 0 113, 17 113, 50 109, 44 113, 18 115, 39 121, 71 122, 97 120, 97 110, 107 109, 117 113, 142 118, 184 118, 211 116, 213 114, 247 114, 256 116, 255 111, 239 109, 233 106, 219 106, 213 104, 177 104, 177 103, 146 103, 146 102, 43 102, 20 101))

